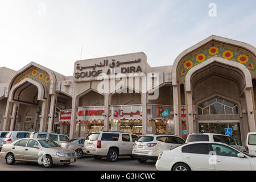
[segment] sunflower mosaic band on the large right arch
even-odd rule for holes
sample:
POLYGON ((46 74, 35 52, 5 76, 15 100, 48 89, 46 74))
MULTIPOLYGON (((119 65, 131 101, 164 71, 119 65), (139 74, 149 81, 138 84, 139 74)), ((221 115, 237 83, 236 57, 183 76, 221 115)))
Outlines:
POLYGON ((205 60, 212 56, 222 57, 224 59, 236 61, 245 65, 250 71, 255 71, 255 63, 253 57, 247 54, 247 51, 227 46, 225 44, 211 43, 208 46, 201 48, 196 53, 193 52, 182 61, 179 69, 179 76, 184 77, 187 75, 189 69, 195 65, 203 63, 205 60))

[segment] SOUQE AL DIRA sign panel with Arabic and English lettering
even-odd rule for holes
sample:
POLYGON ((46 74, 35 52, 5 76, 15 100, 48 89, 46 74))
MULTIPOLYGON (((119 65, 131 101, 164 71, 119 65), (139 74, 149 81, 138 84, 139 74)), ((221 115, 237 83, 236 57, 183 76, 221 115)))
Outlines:
POLYGON ((142 59, 138 56, 110 57, 110 59, 77 61, 75 64, 74 77, 79 80, 92 80, 101 73, 106 75, 117 73, 140 73, 142 72, 142 59), (114 58, 114 59, 113 59, 114 58))

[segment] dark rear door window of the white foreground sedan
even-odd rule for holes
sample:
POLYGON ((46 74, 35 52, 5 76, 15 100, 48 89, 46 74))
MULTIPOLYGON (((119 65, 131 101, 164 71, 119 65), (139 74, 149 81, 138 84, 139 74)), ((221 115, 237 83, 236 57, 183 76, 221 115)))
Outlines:
POLYGON ((208 143, 196 143, 196 144, 189 144, 184 146, 181 149, 184 153, 191 153, 191 154, 209 154, 209 144, 208 143))

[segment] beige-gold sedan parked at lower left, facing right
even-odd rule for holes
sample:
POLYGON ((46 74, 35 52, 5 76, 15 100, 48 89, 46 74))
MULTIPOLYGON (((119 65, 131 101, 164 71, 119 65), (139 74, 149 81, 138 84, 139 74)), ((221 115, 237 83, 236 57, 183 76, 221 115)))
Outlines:
POLYGON ((0 158, 5 159, 7 164, 14 164, 16 160, 41 161, 44 167, 50 168, 53 164, 68 165, 76 162, 77 155, 75 151, 62 148, 52 140, 23 138, 11 144, 4 144, 0 158), (43 154, 46 155, 43 157, 43 154))

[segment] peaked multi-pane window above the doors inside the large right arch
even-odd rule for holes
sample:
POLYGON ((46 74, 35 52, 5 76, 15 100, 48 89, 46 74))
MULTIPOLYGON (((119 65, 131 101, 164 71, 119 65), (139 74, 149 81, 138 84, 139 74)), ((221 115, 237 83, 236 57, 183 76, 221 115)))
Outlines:
POLYGON ((238 107, 236 104, 233 104, 232 102, 216 97, 210 101, 200 104, 198 106, 198 114, 238 114, 238 107))

